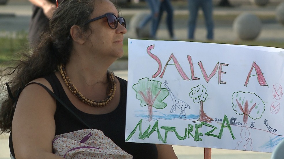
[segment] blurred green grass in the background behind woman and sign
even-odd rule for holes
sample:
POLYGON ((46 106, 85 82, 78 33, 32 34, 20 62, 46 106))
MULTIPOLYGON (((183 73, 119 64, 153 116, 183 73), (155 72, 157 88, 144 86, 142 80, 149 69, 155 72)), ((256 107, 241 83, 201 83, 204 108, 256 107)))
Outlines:
MULTIPOLYGON (((201 42, 201 41, 195 41, 201 42)), ((275 41, 212 41, 213 43, 223 44, 238 44, 238 45, 251 45, 251 46, 270 46, 277 48, 284 48, 283 42, 275 41)), ((7 36, 0 37, 0 65, 11 61, 16 53, 21 51, 27 51, 29 42, 27 40, 27 32, 17 32, 15 34, 8 34, 7 36)), ((119 60, 128 59, 128 39, 124 40, 124 56, 119 60)), ((17 58, 17 57, 16 57, 17 58)))

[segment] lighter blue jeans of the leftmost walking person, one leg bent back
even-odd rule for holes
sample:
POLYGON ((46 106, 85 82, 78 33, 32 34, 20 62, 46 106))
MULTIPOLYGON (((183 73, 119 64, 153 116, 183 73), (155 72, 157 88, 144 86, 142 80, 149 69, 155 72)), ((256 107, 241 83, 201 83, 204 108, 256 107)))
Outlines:
POLYGON ((152 20, 150 35, 154 37, 156 34, 156 30, 158 28, 158 13, 160 8, 160 0, 146 0, 146 1, 151 9, 151 14, 142 20, 142 22, 139 25, 139 28, 145 27, 146 24, 150 20, 152 20))

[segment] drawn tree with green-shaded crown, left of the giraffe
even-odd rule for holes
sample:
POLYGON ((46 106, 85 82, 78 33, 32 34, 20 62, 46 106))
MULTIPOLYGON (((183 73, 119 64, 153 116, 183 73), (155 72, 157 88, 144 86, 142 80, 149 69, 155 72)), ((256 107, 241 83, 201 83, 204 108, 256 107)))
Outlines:
POLYGON ((152 120, 153 107, 162 109, 167 106, 167 103, 162 102, 169 92, 166 88, 161 88, 162 82, 149 80, 149 78, 139 79, 137 84, 133 85, 136 92, 136 98, 141 101, 141 106, 148 106, 148 120, 152 120))

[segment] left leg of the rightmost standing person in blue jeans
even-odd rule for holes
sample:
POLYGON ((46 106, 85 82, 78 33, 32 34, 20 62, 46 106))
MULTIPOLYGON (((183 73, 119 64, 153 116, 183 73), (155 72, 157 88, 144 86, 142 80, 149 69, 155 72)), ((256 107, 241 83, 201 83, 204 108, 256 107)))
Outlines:
POLYGON ((188 0, 189 20, 188 20, 188 39, 194 38, 196 20, 198 16, 199 2, 201 0, 188 0))

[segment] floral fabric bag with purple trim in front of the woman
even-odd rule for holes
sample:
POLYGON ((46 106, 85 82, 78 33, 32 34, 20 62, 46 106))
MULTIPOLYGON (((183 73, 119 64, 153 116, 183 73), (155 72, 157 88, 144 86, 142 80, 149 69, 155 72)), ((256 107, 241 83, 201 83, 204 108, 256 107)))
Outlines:
POLYGON ((131 159, 132 156, 119 148, 97 129, 84 129, 56 135, 52 142, 53 153, 68 159, 131 159))

